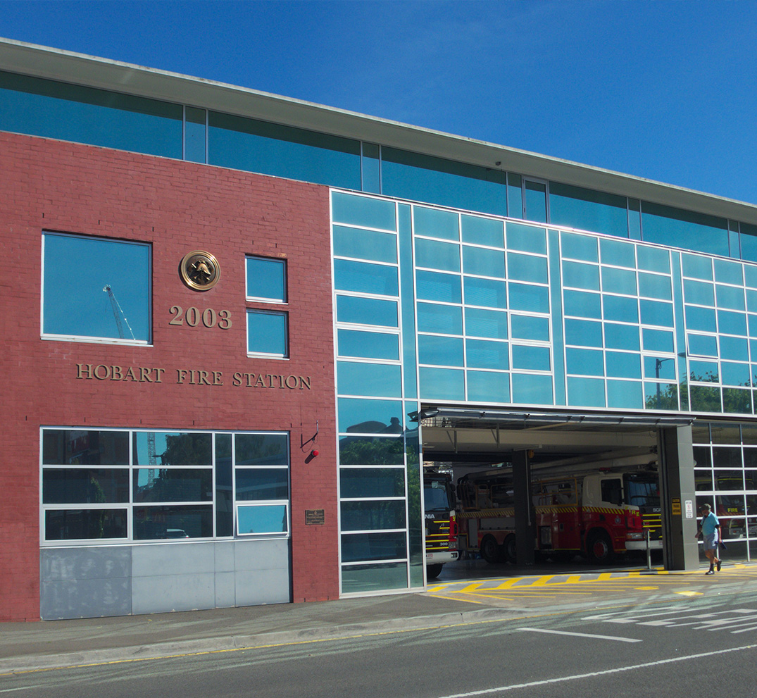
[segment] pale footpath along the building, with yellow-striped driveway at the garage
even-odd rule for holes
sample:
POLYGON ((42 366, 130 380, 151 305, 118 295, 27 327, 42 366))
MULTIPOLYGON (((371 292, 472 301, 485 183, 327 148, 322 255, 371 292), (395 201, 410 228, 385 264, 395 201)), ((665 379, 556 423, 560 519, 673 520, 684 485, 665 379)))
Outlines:
POLYGON ((618 571, 440 581, 428 591, 316 603, 115 618, 0 623, 0 676, 365 634, 506 620, 582 608, 670 603, 757 589, 757 565, 699 572, 618 571), (506 593, 496 594, 497 588, 506 593))

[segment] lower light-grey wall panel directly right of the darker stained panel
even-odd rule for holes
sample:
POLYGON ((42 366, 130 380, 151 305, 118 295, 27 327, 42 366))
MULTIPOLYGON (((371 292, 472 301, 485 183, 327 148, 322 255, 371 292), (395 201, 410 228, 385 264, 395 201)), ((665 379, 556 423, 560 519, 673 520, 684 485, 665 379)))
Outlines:
POLYGON ((132 612, 165 613, 216 607, 213 572, 132 578, 132 612))

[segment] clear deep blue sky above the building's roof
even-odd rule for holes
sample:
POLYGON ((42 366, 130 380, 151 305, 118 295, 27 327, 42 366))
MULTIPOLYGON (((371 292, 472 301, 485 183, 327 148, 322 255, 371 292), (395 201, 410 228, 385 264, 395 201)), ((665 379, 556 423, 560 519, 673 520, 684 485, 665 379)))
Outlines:
POLYGON ((0 36, 757 204, 754 0, 0 0, 0 36))

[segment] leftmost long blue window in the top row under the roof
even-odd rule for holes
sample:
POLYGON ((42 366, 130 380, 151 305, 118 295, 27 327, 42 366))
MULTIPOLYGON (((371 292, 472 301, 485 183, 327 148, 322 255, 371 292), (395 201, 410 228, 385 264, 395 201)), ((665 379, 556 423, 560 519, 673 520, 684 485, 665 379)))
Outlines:
POLYGON ((182 106, 0 73, 0 129, 182 158, 182 106))

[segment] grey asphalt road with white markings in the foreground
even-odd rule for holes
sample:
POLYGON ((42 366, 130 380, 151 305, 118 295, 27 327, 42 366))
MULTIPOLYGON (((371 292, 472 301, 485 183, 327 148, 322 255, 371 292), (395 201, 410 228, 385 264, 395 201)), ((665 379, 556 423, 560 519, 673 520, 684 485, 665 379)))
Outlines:
POLYGON ((755 696, 757 593, 389 631, 0 677, 76 698, 755 696))

